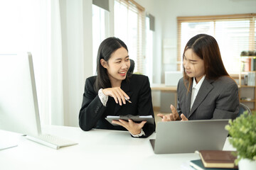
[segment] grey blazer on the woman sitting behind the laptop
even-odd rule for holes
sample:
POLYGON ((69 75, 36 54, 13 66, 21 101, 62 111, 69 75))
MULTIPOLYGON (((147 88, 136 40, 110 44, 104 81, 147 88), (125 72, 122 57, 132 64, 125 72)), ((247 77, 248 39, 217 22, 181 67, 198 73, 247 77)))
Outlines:
POLYGON ((192 86, 186 89, 188 81, 181 78, 178 81, 178 114, 183 113, 188 120, 202 119, 234 119, 239 112, 238 84, 230 77, 220 77, 217 80, 205 78, 191 106, 192 86))

